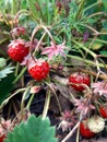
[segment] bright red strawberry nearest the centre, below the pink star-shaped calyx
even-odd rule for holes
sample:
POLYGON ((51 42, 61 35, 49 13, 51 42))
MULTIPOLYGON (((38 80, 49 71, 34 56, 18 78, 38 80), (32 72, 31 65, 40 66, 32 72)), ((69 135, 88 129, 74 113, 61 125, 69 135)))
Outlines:
POLYGON ((36 81, 41 81, 47 78, 49 73, 49 64, 46 61, 37 60, 31 61, 28 64, 28 73, 36 81))

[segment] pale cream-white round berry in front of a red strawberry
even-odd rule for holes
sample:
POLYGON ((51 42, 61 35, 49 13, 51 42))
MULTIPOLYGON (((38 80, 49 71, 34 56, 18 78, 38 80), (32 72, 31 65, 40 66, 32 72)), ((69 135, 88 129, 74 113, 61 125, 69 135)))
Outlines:
POLYGON ((99 116, 93 116, 87 120, 87 127, 92 132, 98 133, 104 130, 105 120, 99 116))

